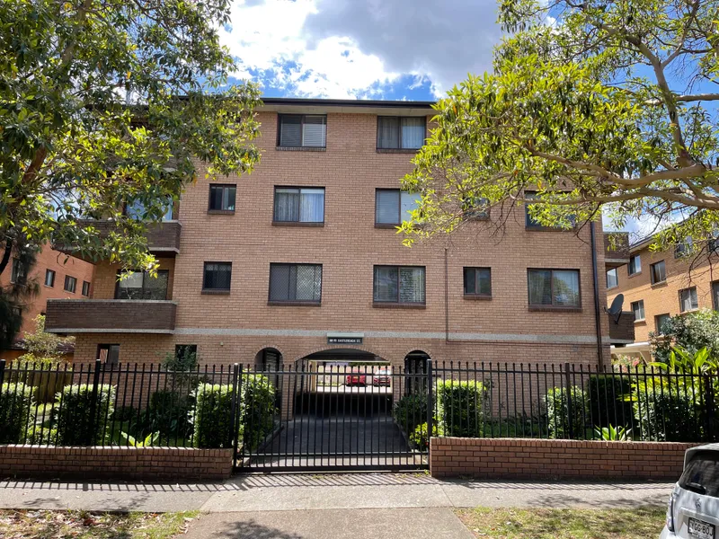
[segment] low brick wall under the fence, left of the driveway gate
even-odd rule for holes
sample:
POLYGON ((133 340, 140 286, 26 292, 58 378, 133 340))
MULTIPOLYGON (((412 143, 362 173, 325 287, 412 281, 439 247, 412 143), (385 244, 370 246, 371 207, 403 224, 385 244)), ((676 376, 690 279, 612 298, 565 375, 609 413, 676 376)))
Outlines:
POLYGON ((209 481, 232 475, 232 449, 0 446, 0 477, 209 481))

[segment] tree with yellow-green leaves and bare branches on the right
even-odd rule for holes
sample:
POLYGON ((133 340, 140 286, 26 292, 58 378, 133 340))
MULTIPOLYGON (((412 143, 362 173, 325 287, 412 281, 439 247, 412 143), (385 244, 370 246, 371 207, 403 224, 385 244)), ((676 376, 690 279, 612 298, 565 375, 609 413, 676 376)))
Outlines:
POLYGON ((494 73, 437 105, 404 189, 421 194, 405 243, 525 201, 540 224, 651 220, 655 248, 719 229, 719 3, 502 0, 512 32, 494 73), (679 225, 674 225, 680 222, 679 225), (673 225, 665 228, 665 225, 673 225))

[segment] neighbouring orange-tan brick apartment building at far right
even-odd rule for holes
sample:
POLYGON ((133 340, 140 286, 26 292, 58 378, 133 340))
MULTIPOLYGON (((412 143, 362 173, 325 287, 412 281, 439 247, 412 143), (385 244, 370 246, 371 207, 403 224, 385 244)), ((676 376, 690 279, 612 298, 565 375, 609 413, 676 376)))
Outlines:
POLYGON ((613 354, 650 358, 649 334, 675 314, 719 308, 719 272, 715 252, 684 256, 684 245, 673 251, 651 252, 652 237, 629 249, 626 265, 607 271, 608 302, 624 295, 625 310, 634 314, 635 342, 612 347, 613 354))

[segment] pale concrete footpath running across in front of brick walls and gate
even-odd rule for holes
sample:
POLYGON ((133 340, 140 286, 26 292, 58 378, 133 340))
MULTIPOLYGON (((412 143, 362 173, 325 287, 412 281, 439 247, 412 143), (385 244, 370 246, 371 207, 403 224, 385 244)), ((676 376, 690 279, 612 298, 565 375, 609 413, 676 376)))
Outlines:
POLYGON ((392 508, 664 506, 670 482, 440 481, 424 473, 240 475, 226 482, 0 482, 0 508, 209 513, 392 508))

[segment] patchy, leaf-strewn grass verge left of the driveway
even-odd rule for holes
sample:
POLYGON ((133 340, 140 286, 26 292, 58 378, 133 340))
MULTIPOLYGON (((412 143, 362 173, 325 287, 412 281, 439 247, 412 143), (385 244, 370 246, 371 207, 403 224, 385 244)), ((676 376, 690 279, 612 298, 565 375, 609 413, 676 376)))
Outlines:
POLYGON ((182 534, 197 512, 88 513, 0 510, 4 539, 169 539, 182 534))

